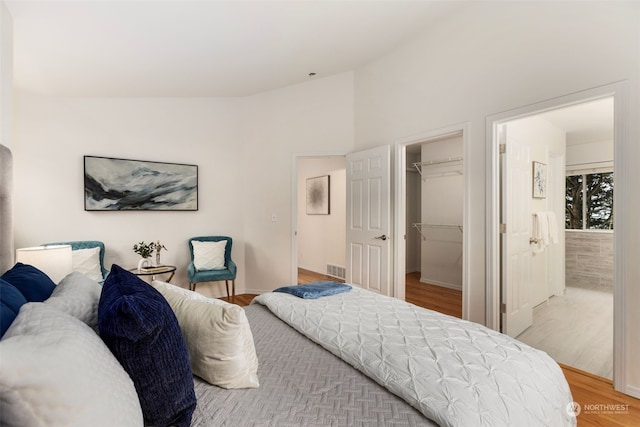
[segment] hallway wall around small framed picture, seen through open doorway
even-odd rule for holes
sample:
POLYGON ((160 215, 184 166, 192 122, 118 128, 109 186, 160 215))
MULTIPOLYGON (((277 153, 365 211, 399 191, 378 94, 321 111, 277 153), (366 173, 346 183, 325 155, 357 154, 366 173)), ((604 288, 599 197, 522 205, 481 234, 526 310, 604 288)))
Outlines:
POLYGON ((346 159, 312 157, 298 160, 298 267, 326 274, 327 264, 346 267, 346 159), (329 175, 329 215, 307 215, 307 178, 329 175))

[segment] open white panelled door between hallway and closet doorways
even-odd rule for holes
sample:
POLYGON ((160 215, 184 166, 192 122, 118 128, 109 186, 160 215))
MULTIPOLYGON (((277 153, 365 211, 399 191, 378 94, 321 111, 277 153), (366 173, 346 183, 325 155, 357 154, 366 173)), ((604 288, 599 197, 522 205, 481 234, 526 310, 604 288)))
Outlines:
POLYGON ((389 146, 347 155, 347 282, 391 296, 389 146))

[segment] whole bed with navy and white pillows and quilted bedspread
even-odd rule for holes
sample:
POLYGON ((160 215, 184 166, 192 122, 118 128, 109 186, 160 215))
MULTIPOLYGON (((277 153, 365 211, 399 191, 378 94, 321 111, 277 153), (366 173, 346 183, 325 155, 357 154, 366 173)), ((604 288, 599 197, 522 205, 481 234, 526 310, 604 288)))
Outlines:
MULTIPOLYGON (((2 230, 0 240, 9 235, 2 230)), ((2 277, 15 280, 9 271, 2 277)), ((46 281, 29 271, 36 276, 27 287, 46 281)), ((545 353, 355 287, 317 299, 270 292, 239 308, 163 282, 141 285, 118 266, 104 286, 80 273, 46 286, 49 295, 22 302, 0 340, 3 426, 161 425, 149 423, 144 402, 160 411, 182 405, 182 418, 165 423, 180 427, 576 425, 568 384, 545 353), (116 329, 129 322, 105 314, 105 294, 120 278, 141 292, 153 338, 174 339, 145 341, 134 351, 143 365, 120 358, 105 327, 110 319, 116 329), (163 310, 169 329, 156 329, 163 310), (212 338, 203 325, 221 335, 212 338), (225 346, 235 359, 217 357, 221 365, 209 360, 213 369, 196 370, 201 353, 225 346), (152 375, 142 388, 138 366, 152 375)))

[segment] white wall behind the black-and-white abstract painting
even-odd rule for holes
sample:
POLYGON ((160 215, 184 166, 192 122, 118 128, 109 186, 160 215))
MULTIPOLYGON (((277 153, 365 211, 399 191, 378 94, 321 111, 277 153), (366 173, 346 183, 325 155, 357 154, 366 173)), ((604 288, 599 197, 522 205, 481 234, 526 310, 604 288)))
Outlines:
MULTIPOLYGON (((160 240, 163 262, 186 287, 187 240, 234 238, 244 265, 240 102, 216 99, 87 99, 19 94, 15 159, 16 246, 102 240, 107 266, 137 265, 132 246, 160 240), (197 212, 84 211, 83 156, 198 165, 197 212)), ((244 283, 244 269, 238 281, 244 283)))

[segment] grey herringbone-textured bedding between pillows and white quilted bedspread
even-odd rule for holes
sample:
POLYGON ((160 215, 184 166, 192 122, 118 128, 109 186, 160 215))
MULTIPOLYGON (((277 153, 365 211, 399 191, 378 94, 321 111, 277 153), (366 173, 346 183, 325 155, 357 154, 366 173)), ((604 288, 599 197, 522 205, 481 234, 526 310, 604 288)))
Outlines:
POLYGON ((225 390, 195 377, 193 427, 437 425, 265 306, 245 310, 260 362, 260 387, 225 390))

